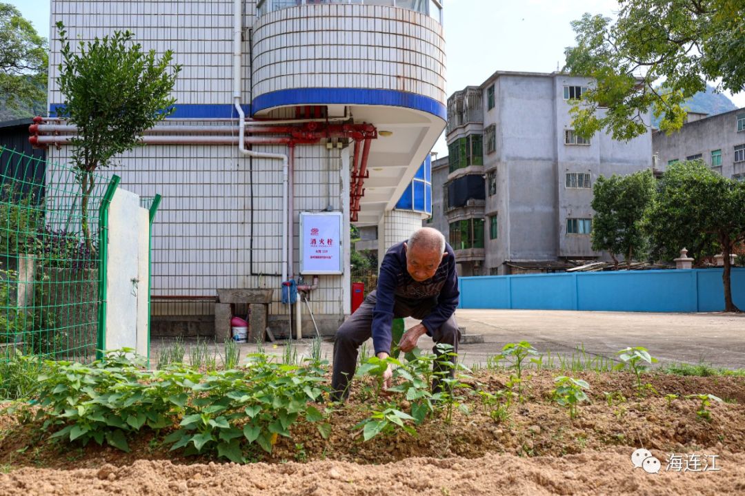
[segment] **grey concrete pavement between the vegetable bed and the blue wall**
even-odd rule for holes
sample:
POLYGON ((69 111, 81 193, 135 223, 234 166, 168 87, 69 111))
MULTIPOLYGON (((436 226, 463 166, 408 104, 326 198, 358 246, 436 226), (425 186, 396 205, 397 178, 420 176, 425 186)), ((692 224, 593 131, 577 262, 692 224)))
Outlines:
MULTIPOLYGON (((583 346, 588 355, 612 358, 622 348, 642 346, 661 364, 704 361, 715 367, 745 368, 745 314, 457 310, 456 318, 467 333, 484 335, 484 343, 461 345, 466 365, 486 364, 486 358, 500 352, 504 344, 529 341, 539 352, 550 351, 552 355, 571 356, 578 346, 583 346)), ((417 322, 407 319, 406 326, 417 322)), ((267 343, 264 350, 281 356, 286 343, 278 341, 276 347, 267 343)), ((299 356, 310 355, 311 343, 309 338, 293 341, 299 356)), ((168 341, 153 340, 153 362, 163 344, 168 341)), ((419 347, 432 346, 427 336, 419 341, 419 347)), ((325 338, 321 356, 329 361, 332 347, 331 338, 325 338)), ((217 348, 221 350, 222 345, 217 348)), ((240 348, 241 356, 256 351, 255 344, 241 344, 240 348)), ((372 350, 370 340, 367 352, 372 350)))

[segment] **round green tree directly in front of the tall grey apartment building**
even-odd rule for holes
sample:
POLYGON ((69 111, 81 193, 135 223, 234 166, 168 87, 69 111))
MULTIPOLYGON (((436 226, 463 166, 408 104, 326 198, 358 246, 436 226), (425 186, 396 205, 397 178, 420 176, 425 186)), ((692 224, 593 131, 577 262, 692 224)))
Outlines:
POLYGON ((617 255, 624 255, 627 268, 633 257, 640 257, 647 245, 644 212, 654 194, 654 178, 649 170, 630 175, 602 175, 592 187, 592 249, 608 251, 618 270, 617 255))

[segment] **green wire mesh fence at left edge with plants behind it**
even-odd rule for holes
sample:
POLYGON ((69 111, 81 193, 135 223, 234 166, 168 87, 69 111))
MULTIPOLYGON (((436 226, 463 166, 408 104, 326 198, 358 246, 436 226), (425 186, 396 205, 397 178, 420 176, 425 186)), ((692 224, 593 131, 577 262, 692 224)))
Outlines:
POLYGON ((0 146, 0 360, 95 359, 110 182, 0 146))

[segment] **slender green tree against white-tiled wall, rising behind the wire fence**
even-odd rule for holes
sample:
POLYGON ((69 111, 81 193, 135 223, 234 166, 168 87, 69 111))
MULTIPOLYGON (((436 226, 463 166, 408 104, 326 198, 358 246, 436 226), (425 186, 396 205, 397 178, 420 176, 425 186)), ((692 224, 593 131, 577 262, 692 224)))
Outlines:
POLYGON ((156 58, 133 44, 130 31, 115 31, 104 39, 80 42, 79 53, 70 48, 62 22, 60 91, 64 106, 58 115, 77 126, 72 144, 72 164, 82 189, 80 209, 86 245, 94 251, 88 225, 88 203, 98 167, 108 167, 112 157, 142 145, 145 129, 174 112, 170 97, 179 65, 171 65, 173 52, 156 58), (169 71, 169 68, 171 69, 169 71))

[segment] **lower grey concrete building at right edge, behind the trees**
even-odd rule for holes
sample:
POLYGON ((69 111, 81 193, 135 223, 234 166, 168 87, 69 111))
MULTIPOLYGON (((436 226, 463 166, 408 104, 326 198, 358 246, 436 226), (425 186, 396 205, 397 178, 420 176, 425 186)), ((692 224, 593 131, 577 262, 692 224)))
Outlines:
POLYGON ((689 113, 679 132, 652 133, 655 169, 700 158, 727 178, 745 180, 745 108, 706 117, 689 113))

